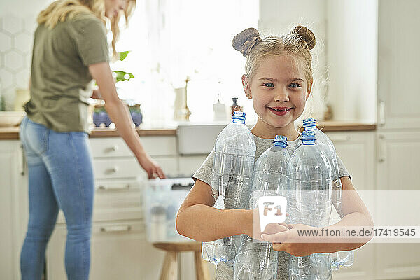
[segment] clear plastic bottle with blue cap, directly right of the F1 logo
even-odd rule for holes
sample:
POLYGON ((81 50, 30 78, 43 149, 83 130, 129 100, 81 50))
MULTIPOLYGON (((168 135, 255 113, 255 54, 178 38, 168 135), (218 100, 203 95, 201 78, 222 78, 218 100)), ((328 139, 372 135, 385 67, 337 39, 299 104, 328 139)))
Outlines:
MULTIPOLYGON (((316 144, 315 132, 304 131, 290 157, 288 212, 291 223, 328 225, 331 214, 331 166, 316 144)), ((330 254, 314 253, 290 258, 290 279, 331 279, 330 254)))

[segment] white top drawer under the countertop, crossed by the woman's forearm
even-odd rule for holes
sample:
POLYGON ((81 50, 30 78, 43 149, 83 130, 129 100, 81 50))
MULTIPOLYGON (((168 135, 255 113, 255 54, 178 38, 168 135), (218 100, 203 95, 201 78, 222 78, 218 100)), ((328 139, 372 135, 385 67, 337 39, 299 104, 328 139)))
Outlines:
MULTIPOLYGON (((141 137, 148 155, 176 155, 176 137, 141 137)), ((130 148, 120 137, 90 139, 93 158, 133 156, 130 148)))

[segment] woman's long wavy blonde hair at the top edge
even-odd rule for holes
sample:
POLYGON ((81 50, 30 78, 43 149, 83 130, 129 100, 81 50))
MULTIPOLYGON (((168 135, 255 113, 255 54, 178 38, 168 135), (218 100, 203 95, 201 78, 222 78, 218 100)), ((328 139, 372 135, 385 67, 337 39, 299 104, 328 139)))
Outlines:
MULTIPOLYGON (((135 6, 136 0, 127 0, 127 5, 124 10, 126 24, 132 15, 135 6)), ((48 8, 41 11, 36 21, 38 22, 38 25, 45 25, 52 29, 58 22, 64 22, 66 19, 71 20, 80 13, 95 15, 104 22, 104 25, 106 24, 105 0, 57 0, 52 2, 48 8)), ((117 55, 116 42, 120 35, 120 29, 118 27, 120 18, 121 13, 118 13, 118 16, 111 19, 111 32, 113 35, 111 45, 114 57, 117 55)))

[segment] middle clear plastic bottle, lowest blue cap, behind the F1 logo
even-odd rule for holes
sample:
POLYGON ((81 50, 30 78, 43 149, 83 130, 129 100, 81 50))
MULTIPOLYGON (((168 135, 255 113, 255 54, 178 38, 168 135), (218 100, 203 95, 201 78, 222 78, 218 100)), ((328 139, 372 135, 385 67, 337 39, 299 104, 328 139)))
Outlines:
MULTIPOLYGON (((267 195, 286 195, 288 190, 287 138, 276 135, 274 146, 262 153, 255 163, 250 209, 258 207, 258 198, 267 195)), ((234 279, 274 280, 277 276, 278 252, 272 243, 244 237, 234 266, 234 279)))

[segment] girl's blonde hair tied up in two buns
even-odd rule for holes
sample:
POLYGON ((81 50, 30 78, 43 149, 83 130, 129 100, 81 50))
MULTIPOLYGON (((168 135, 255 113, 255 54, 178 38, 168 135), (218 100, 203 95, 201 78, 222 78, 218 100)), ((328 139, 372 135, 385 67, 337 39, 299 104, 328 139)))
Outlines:
POLYGON ((232 46, 246 57, 245 76, 250 83, 262 59, 271 55, 293 55, 304 61, 307 83, 312 78, 312 56, 309 50, 315 46, 315 36, 307 27, 297 26, 285 36, 260 38, 254 28, 248 28, 233 38, 232 46))

